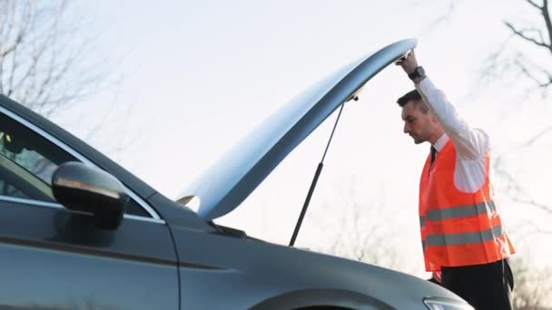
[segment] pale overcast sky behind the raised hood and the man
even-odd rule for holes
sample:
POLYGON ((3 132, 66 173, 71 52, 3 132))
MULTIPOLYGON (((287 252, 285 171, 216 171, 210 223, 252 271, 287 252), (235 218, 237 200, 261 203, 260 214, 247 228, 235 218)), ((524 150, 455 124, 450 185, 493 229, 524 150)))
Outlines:
MULTIPOLYGON (((123 80, 75 109, 108 115, 106 126, 116 132, 87 140, 176 199, 224 150, 313 82, 384 45, 415 37, 419 63, 469 123, 488 131, 496 153, 516 150, 549 124, 550 108, 540 98, 517 102, 511 87, 501 84, 475 90, 485 57, 508 36, 502 20, 536 15, 522 1, 457 3, 454 14, 439 23, 448 1, 98 0, 88 9, 102 31, 99 53, 116 60, 113 71, 123 80), (115 150, 113 141, 132 144, 115 150)), ((298 247, 329 249, 343 230, 342 218, 356 213, 361 228, 384 225, 380 233, 405 257, 401 268, 420 274, 418 181, 429 145, 414 145, 402 133, 394 103, 411 89, 399 67, 389 66, 364 87, 359 102, 346 105, 298 247)), ((84 136, 98 121, 86 120, 64 123, 84 136)), ((334 120, 335 115, 240 208, 217 222, 287 244, 334 120)), ((541 201, 552 201, 546 190, 550 178, 535 178, 535 166, 520 165, 525 153, 508 154, 524 186, 541 201)), ((549 155, 538 149, 534 157, 547 174, 549 155)), ((503 200, 510 230, 543 218, 503 200)), ((531 258, 547 263, 547 252, 538 247, 547 239, 521 233, 514 239, 519 247, 532 245, 531 258)), ((342 242, 355 241, 362 242, 342 242)))

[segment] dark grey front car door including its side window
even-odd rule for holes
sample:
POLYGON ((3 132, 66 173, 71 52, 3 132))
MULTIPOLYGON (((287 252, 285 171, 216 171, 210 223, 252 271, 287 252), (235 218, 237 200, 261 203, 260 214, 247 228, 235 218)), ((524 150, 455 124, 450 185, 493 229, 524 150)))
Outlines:
POLYGON ((169 229, 131 189, 115 230, 55 201, 56 167, 84 158, 0 107, 0 308, 178 309, 169 229))

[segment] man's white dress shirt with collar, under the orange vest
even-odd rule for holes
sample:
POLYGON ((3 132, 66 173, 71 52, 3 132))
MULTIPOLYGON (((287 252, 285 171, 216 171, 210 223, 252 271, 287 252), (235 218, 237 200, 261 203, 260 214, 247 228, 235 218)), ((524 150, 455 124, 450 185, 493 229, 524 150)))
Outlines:
POLYGON ((486 157, 490 148, 488 134, 485 131, 470 128, 449 102, 445 94, 439 91, 429 77, 416 84, 423 101, 435 116, 441 127, 443 135, 435 142, 433 147, 439 151, 447 142, 452 140, 457 156, 454 170, 454 185, 460 191, 475 192, 483 187, 487 177, 486 157))

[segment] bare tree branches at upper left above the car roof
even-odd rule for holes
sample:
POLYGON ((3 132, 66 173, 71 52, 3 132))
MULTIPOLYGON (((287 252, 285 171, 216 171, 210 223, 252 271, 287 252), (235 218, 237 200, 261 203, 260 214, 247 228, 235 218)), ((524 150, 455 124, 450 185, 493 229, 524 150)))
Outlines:
POLYGON ((44 116, 96 90, 107 73, 68 0, 0 0, 0 92, 44 116))

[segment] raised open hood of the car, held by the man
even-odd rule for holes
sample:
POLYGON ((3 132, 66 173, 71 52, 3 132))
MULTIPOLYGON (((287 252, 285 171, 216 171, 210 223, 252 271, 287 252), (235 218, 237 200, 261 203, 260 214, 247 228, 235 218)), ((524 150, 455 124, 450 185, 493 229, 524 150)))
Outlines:
POLYGON ((193 197, 199 198, 198 214, 206 220, 231 212, 333 111, 356 96, 374 75, 414 49, 416 44, 416 39, 389 44, 320 80, 262 121, 182 191, 178 202, 186 204, 193 197))

